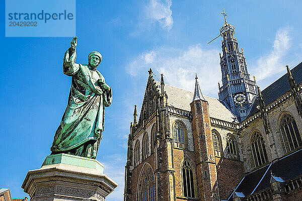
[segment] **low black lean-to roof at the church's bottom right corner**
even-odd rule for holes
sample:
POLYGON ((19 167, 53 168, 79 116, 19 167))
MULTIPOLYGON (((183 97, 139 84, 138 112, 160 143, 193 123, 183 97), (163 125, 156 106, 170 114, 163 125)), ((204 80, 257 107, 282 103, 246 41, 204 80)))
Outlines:
MULTIPOLYGON (((271 171, 276 177, 284 181, 302 175, 302 149, 289 154, 276 162, 269 163, 247 174, 236 188, 236 192, 242 192, 245 196, 259 192, 271 186, 271 171)), ((228 200, 233 200, 232 196, 228 200)))

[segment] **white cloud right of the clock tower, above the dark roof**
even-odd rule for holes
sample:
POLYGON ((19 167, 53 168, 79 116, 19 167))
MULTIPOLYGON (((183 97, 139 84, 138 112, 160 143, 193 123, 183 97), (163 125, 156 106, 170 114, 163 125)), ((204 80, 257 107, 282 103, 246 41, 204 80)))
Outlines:
POLYGON ((257 80, 262 80, 285 70, 284 56, 289 50, 290 28, 279 29, 276 33, 272 51, 260 57, 253 65, 251 72, 256 75, 257 80))

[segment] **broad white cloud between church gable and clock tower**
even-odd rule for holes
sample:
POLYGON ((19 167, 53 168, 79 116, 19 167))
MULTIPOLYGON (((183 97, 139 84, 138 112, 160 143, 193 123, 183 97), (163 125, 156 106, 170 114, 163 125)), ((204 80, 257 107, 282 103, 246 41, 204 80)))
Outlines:
POLYGON ((194 90, 197 73, 202 92, 217 96, 217 83, 221 80, 218 52, 217 49, 205 50, 199 44, 186 50, 161 47, 133 59, 128 71, 136 76, 151 67, 156 75, 164 74, 166 83, 190 91, 194 90))

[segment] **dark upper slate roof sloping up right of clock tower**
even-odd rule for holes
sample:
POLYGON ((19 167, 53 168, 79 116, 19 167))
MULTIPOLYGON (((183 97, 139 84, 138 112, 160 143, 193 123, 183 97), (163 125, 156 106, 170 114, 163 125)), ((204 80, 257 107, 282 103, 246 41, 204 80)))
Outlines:
MULTIPOLYGON (((299 63, 296 67, 291 70, 292 75, 294 76, 296 83, 299 84, 302 82, 302 62, 299 63)), ((265 105, 270 104, 275 99, 286 93, 290 90, 290 85, 288 82, 287 73, 285 73, 282 77, 274 81, 271 85, 266 87, 261 91, 262 97, 264 99, 265 105)), ((254 115, 258 112, 256 108, 259 106, 259 99, 256 98, 255 102, 250 110, 248 117, 254 115)))

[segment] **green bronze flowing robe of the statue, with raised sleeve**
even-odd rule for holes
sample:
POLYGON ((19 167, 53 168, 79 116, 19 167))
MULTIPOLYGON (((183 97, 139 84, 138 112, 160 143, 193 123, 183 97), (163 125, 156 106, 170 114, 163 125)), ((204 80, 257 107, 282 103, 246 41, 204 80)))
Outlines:
MULTIPOLYGON (((76 57, 75 51, 69 55, 67 50, 64 55, 63 72, 72 76, 72 81, 68 105, 51 147, 54 153, 68 153, 88 141, 99 141, 104 130, 105 107, 112 102, 112 89, 105 91, 99 86, 98 79, 105 82, 103 75, 87 64, 75 63, 76 57)), ((95 158, 96 153, 91 157, 95 158)))

